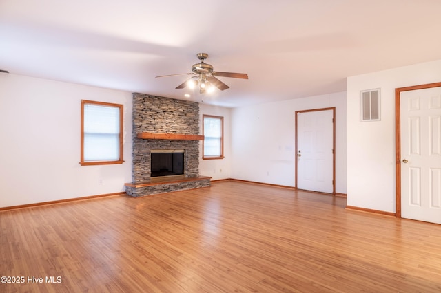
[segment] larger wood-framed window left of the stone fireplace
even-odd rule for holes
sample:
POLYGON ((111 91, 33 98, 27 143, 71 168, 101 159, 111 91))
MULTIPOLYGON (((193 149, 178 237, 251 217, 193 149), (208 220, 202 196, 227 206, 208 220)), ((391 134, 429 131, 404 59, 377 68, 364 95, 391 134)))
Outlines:
POLYGON ((123 105, 81 100, 82 166, 123 163, 123 105))

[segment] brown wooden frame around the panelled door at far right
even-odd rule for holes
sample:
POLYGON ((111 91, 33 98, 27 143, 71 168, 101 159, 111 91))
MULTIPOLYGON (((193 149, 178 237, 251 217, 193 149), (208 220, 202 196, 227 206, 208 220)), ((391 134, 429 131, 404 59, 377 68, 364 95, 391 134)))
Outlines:
POLYGON ((401 217, 401 111, 400 101, 402 91, 415 91, 417 89, 430 89, 441 87, 441 83, 427 83, 424 85, 413 85, 411 87, 398 87, 395 89, 395 188, 396 188, 396 217, 401 217))

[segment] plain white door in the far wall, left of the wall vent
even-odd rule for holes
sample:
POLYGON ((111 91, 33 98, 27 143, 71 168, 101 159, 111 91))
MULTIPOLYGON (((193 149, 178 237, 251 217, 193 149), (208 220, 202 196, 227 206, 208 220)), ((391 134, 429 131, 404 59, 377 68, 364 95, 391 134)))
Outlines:
POLYGON ((297 112, 297 188, 334 193, 334 111, 297 112))

